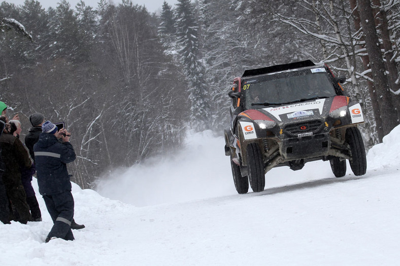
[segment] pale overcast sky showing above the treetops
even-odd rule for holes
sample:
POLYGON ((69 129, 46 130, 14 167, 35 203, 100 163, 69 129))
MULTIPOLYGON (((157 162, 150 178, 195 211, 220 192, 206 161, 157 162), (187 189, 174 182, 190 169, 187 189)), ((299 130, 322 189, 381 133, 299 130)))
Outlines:
MULTIPOLYGON (((23 5, 25 0, 5 0, 7 3, 13 3, 15 5, 23 5)), ((3 0, 0 0, 3 2, 3 0)), ((43 8, 47 9, 49 7, 55 8, 57 6, 58 0, 39 0, 39 3, 42 5, 43 8)), ((80 0, 68 0, 72 8, 75 9, 75 5, 80 2, 80 0)), ((83 0, 87 6, 91 6, 93 8, 97 8, 97 3, 99 0, 83 0)), ((115 5, 120 4, 121 0, 111 0, 115 5)), ((158 9, 161 10, 162 3, 164 0, 132 0, 132 3, 138 5, 146 6, 149 12, 155 12, 158 9)), ((170 4, 173 8, 175 8, 175 4, 178 3, 178 0, 166 0, 168 4, 170 4)))

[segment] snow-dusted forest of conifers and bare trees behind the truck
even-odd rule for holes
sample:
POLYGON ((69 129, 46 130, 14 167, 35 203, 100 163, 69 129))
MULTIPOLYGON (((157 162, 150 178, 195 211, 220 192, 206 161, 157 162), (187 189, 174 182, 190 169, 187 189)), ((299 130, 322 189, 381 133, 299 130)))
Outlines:
POLYGON ((310 59, 345 75, 367 148, 400 121, 399 0, 178 0, 157 13, 130 0, 2 2, 0 40, 0 101, 22 134, 34 112, 65 123, 82 188, 171 155, 190 130, 222 135, 245 69, 310 59))

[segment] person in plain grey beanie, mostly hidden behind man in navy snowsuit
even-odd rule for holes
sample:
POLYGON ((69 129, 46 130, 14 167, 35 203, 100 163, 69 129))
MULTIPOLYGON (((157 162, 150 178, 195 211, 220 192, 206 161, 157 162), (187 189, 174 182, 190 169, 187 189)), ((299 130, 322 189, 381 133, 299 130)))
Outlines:
MULTIPOLYGON (((35 152, 34 145, 39 141, 39 136, 42 133, 42 125, 45 122, 45 117, 39 113, 32 113, 29 116, 29 121, 32 127, 29 129, 29 133, 25 136, 25 145, 29 150, 30 158, 34 160, 35 163, 35 152)), ((83 229, 85 228, 84 224, 78 224, 75 222, 75 219, 72 219, 71 229, 83 229)))

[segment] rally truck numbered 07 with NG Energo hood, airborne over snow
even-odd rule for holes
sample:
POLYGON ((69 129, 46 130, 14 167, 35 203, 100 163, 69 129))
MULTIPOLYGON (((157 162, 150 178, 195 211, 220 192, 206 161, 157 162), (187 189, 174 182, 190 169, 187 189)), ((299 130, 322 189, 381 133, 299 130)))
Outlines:
POLYGON ((300 170, 311 161, 329 161, 336 177, 366 171, 365 149, 358 125, 360 103, 352 100, 323 63, 311 60, 245 70, 228 96, 230 128, 224 130, 225 155, 236 190, 247 193, 265 186, 274 167, 300 170))

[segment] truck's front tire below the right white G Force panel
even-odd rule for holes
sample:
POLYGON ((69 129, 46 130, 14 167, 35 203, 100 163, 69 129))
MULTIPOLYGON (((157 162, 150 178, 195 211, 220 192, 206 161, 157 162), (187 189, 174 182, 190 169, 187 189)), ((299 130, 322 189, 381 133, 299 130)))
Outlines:
POLYGON ((366 172, 366 156, 361 133, 356 127, 346 130, 346 142, 350 146, 351 159, 349 160, 354 175, 363 175, 366 172))

